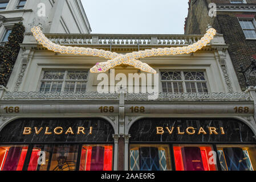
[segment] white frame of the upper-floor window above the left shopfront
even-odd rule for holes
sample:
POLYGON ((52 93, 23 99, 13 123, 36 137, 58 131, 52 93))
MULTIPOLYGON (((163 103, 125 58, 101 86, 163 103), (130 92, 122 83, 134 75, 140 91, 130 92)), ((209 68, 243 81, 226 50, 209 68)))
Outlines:
MULTIPOLYGON (((81 82, 86 82, 86 91, 87 92, 87 83, 88 83, 88 77, 89 77, 89 71, 88 69, 43 69, 42 72, 41 72, 41 75, 40 75, 40 79, 39 79, 39 82, 38 82, 38 86, 37 86, 37 89, 36 91, 37 92, 40 92, 40 87, 41 87, 41 84, 43 81, 45 82, 58 82, 58 81, 62 81, 62 89, 60 90, 60 92, 64 92, 64 89, 65 89, 65 83, 68 82, 68 81, 71 81, 71 82, 76 82, 75 84, 75 88, 74 88, 74 93, 76 92, 76 85, 77 85, 77 82, 81 81, 81 82), (44 72, 58 72, 58 71, 63 71, 64 72, 64 76, 63 76, 63 79, 62 80, 46 80, 46 79, 43 79, 43 76, 44 76, 44 72), (66 77, 67 77, 67 73, 69 71, 84 71, 84 72, 87 72, 87 80, 67 80, 66 77)), ((52 88, 52 83, 51 83, 51 87, 50 87, 50 90, 52 88)), ((43 92, 43 91, 41 91, 43 92)), ((50 92, 50 91, 47 91, 47 92, 50 92)))

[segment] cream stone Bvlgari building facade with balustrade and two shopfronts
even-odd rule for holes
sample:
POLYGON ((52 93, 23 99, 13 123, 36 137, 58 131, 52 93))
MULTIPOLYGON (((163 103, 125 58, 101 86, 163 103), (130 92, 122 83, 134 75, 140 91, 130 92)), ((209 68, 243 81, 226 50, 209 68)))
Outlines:
MULTIPOLYGON (((45 35, 123 54, 203 36, 45 35)), ((54 53, 31 32, 21 48, 0 88, 0 170, 256 169, 255 88, 242 92, 222 34, 194 53, 140 59, 155 75, 127 65, 91 73, 105 59, 54 53)))

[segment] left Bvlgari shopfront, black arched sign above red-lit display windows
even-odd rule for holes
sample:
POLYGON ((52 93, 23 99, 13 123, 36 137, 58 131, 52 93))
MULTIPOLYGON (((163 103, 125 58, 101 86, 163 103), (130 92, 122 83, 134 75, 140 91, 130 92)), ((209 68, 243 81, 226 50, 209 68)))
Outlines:
POLYGON ((111 171, 113 127, 101 118, 28 118, 0 132, 1 171, 111 171))

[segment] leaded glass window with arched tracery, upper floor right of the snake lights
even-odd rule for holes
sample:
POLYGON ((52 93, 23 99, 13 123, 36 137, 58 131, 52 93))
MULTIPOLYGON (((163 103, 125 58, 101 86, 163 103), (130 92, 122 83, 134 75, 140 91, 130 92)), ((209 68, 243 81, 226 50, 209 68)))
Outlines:
POLYGON ((204 72, 161 72, 162 92, 208 93, 204 72))

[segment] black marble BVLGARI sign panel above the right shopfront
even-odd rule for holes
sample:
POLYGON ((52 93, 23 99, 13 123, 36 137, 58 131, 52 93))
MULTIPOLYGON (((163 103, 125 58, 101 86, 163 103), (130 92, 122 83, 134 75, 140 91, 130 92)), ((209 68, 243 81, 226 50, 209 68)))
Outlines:
POLYGON ((256 142, 253 131, 232 118, 144 118, 129 134, 131 142, 256 142))

